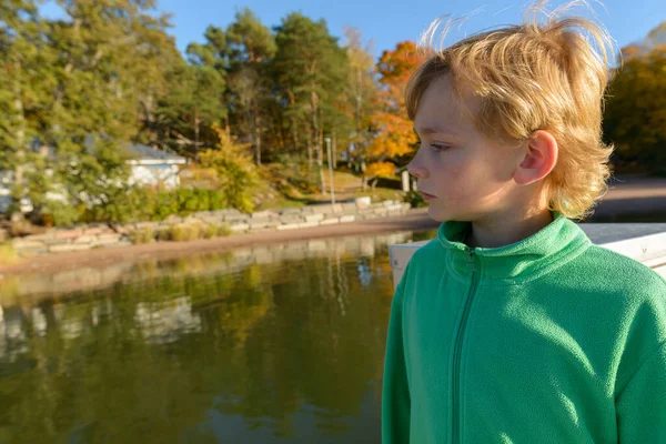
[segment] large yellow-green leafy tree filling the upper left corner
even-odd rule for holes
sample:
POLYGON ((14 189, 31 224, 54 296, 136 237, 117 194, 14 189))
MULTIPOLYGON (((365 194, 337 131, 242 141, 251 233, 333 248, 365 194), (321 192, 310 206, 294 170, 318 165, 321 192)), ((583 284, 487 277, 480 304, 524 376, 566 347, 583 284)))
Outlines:
POLYGON ((57 3, 64 18, 52 21, 34 2, 0 7, 0 105, 10 115, 0 143, 14 201, 64 223, 77 206, 123 199, 127 143, 151 127, 164 64, 180 56, 152 0, 57 3))

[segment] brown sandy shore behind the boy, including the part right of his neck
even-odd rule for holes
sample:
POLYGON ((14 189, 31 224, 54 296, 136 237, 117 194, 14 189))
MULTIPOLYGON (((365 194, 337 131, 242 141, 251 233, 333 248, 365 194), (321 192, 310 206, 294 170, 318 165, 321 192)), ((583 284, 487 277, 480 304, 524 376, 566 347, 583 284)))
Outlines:
MULTIPOLYGON (((640 176, 617 178, 588 222, 619 222, 627 216, 662 221, 666 218, 666 179, 640 176), (649 218, 649 215, 656 218, 649 218)), ((635 221, 632 221, 635 222, 635 221)), ((7 278, 75 271, 80 268, 103 269, 111 264, 138 263, 148 260, 170 260, 198 253, 229 251, 248 245, 270 245, 290 241, 386 233, 392 231, 425 231, 440 225, 427 215, 427 208, 412 209, 404 214, 314 228, 260 231, 226 238, 192 242, 154 242, 140 245, 102 248, 78 252, 40 255, 0 265, 0 282, 7 278)))

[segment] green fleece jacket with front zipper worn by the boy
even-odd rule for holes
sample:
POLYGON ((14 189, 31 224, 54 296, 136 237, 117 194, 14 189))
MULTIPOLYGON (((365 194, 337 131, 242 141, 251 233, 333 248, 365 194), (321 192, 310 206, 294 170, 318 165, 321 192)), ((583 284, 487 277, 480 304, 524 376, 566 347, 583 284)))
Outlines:
POLYGON ((666 282, 559 213, 497 249, 445 222, 392 302, 384 444, 666 443, 666 282))

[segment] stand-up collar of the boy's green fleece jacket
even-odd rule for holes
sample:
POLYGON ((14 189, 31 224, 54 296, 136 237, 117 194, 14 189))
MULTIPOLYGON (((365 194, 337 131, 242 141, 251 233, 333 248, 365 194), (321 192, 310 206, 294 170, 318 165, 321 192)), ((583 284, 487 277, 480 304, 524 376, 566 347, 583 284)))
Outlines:
POLYGON ((473 271, 482 279, 516 282, 537 278, 577 256, 592 242, 581 228, 559 212, 553 222, 516 243, 495 249, 471 249, 463 243, 471 222, 448 221, 437 231, 440 243, 450 251, 447 265, 457 275, 473 271))

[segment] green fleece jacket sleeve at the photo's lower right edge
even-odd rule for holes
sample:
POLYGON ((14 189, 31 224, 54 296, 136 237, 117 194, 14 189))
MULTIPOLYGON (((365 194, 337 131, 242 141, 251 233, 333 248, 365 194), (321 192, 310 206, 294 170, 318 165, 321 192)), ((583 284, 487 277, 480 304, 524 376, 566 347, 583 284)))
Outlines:
POLYGON ((666 342, 640 363, 615 407, 619 443, 666 443, 666 342))

